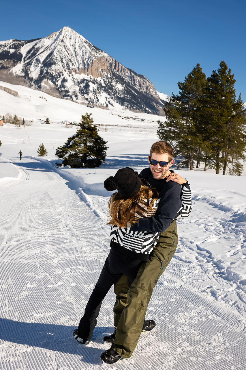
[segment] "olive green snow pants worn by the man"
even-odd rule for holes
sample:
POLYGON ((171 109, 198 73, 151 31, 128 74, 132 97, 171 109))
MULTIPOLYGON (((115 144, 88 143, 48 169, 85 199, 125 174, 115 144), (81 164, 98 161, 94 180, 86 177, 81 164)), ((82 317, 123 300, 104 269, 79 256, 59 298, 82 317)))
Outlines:
POLYGON ((130 357, 137 345, 154 286, 171 261, 177 243, 177 225, 172 221, 160 234, 157 245, 148 261, 141 265, 131 286, 129 287, 125 275, 122 275, 114 285, 116 331, 111 348, 124 358, 130 357))

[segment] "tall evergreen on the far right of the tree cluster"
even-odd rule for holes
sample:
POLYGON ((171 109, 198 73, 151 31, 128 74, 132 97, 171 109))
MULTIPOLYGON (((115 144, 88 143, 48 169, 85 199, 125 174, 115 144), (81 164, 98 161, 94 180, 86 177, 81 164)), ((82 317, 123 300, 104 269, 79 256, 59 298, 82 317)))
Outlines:
MULTIPOLYGON (((242 100, 236 100, 236 80, 224 61, 208 77, 208 85, 198 108, 198 133, 209 142, 209 166, 225 174, 229 158, 235 157, 238 170, 245 148, 245 112, 242 100), (236 138, 240 139, 237 140, 236 138)), ((240 171, 239 171, 240 172, 240 171)))

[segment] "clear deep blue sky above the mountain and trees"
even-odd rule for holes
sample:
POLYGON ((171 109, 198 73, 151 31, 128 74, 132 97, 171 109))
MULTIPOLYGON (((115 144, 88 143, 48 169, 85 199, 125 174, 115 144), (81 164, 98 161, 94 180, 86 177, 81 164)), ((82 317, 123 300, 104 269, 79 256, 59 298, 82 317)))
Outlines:
POLYGON ((224 60, 246 101, 245 16, 245 0, 12 0, 1 3, 0 40, 69 26, 168 95, 197 63, 211 75, 224 60))

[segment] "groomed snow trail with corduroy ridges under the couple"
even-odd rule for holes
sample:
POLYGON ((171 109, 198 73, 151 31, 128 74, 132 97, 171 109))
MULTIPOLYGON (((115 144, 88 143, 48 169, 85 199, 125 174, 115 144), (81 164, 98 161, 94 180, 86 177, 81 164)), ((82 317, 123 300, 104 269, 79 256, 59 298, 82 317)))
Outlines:
MULTIPOLYGON (((112 366, 99 360, 109 347, 102 337, 113 330, 112 290, 92 342, 75 342, 72 331, 109 251, 109 228, 77 184, 48 162, 24 158, 15 165, 20 176, 0 182, 1 369, 246 369, 242 315, 184 283, 184 253, 191 250, 184 243, 192 243, 182 238, 148 309, 157 326, 141 334, 130 359, 112 366)), ((207 258, 197 253, 188 280, 208 280, 207 258)))

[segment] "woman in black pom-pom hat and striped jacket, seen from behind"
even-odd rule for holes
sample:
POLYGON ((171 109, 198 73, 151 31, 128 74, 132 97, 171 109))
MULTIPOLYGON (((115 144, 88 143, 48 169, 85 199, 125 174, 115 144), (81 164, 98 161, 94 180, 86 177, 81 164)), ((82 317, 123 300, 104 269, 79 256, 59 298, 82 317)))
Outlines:
POLYGON ((102 301, 110 287, 124 274, 129 284, 137 276, 143 261, 148 260, 160 233, 131 232, 130 226, 139 218, 150 217, 158 205, 156 189, 143 185, 133 169, 119 169, 116 175, 104 182, 108 191, 117 189, 109 200, 110 252, 107 256, 98 282, 85 307, 73 337, 82 344, 89 344, 97 323, 102 301))

